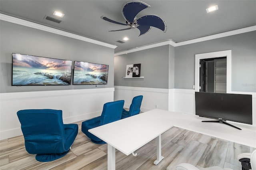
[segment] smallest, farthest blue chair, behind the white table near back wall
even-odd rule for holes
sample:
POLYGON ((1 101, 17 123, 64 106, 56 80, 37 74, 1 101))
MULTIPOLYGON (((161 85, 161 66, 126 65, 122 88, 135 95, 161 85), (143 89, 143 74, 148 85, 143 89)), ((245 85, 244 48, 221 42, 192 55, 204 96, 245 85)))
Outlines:
POLYGON ((126 111, 125 109, 123 109, 121 119, 124 119, 126 117, 130 117, 130 116, 133 116, 133 115, 138 115, 140 113, 140 106, 141 106, 142 98, 143 98, 142 95, 134 97, 132 99, 132 104, 130 105, 129 111, 126 111))

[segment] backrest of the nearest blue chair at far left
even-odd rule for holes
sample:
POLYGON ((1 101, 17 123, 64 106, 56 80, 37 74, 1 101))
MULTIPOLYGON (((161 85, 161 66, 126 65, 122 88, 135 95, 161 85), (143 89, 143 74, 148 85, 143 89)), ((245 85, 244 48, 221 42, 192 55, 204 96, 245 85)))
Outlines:
POLYGON ((61 153, 64 150, 64 125, 61 110, 28 109, 17 112, 30 154, 61 153))

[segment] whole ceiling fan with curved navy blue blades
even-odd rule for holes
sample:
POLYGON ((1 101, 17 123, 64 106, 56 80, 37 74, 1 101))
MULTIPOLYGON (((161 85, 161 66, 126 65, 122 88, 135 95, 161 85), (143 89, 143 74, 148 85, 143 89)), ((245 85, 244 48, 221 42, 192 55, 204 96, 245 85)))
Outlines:
POLYGON ((136 1, 136 0, 126 2, 122 6, 122 15, 126 20, 126 24, 116 22, 105 16, 101 16, 100 18, 108 22, 112 22, 114 24, 130 26, 129 28, 124 28, 121 30, 112 30, 112 31, 123 31, 123 30, 138 28, 140 30, 139 36, 141 36, 143 34, 146 34, 151 29, 151 27, 155 27, 166 32, 166 29, 167 29, 166 22, 162 20, 160 16, 157 16, 154 14, 145 15, 140 18, 136 16, 140 11, 144 10, 145 8, 150 8, 150 5, 141 1, 136 1))

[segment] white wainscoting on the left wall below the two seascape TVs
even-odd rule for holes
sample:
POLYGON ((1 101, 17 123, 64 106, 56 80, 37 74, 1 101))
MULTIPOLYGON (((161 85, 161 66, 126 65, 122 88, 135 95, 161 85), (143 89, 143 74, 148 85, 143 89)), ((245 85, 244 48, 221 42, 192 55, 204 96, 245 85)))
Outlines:
POLYGON ((0 140, 22 135, 19 110, 62 110, 66 124, 99 116, 110 101, 114 101, 114 88, 0 93, 0 140))

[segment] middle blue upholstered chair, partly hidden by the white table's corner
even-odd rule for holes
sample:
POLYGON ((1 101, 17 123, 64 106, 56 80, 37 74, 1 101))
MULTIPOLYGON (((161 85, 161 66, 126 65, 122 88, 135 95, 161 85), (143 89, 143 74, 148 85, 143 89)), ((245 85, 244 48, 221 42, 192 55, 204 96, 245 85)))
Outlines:
POLYGON ((82 132, 84 132, 84 134, 86 134, 86 136, 88 136, 88 138, 90 138, 91 141, 96 144, 106 143, 100 138, 88 132, 88 130, 91 128, 95 128, 101 125, 105 125, 120 120, 122 116, 123 107, 124 100, 105 103, 103 106, 101 116, 82 122, 82 132))

